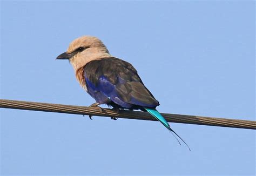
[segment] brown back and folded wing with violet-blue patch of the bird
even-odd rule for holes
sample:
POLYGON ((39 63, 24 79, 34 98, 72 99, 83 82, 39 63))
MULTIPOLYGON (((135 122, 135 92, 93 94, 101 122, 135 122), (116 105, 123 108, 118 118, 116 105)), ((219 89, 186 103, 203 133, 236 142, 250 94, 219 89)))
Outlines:
POLYGON ((106 100, 106 104, 124 109, 154 108, 159 105, 143 84, 137 70, 122 59, 112 57, 93 60, 84 66, 84 77, 87 90, 96 101, 100 93, 111 100, 106 100))

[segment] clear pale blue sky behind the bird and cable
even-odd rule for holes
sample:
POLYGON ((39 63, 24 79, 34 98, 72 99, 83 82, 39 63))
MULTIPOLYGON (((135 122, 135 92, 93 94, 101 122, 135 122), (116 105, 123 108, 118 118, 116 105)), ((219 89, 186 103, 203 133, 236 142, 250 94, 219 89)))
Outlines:
MULTIPOLYGON (((1 1, 1 98, 90 105, 68 62, 83 35, 133 64, 166 113, 254 120, 253 1, 1 1)), ((255 174, 255 132, 1 109, 1 173, 255 174)))

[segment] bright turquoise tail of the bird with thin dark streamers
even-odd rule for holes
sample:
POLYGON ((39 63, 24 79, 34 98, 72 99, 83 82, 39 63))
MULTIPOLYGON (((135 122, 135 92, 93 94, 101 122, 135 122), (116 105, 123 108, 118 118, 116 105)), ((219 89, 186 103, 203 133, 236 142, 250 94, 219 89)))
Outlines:
MULTIPOLYGON (((176 134, 176 136, 179 137, 179 135, 175 131, 173 131, 172 128, 170 128, 170 125, 168 124, 168 122, 165 120, 165 118, 156 109, 151 109, 151 108, 147 108, 147 107, 144 107, 144 109, 147 112, 149 112, 154 118, 156 118, 158 121, 160 121, 160 123, 163 124, 171 133, 173 132, 174 134, 176 134)), ((172 133, 172 135, 174 136, 173 133, 172 133)), ((176 138, 176 136, 174 136, 174 137, 176 138)), ((186 146, 190 150, 190 147, 187 145, 187 143, 185 143, 185 141, 181 137, 179 137, 179 138, 183 141, 184 144, 186 144, 186 146)), ((178 139, 177 139, 177 141, 180 144, 178 139)))

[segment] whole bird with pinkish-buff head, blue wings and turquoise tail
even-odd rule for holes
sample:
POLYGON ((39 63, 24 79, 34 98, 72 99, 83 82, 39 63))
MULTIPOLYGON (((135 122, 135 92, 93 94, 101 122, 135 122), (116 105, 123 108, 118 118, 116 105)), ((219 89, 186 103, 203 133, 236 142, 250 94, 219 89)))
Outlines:
POLYGON ((113 57, 97 37, 76 38, 56 59, 69 60, 79 84, 96 100, 91 107, 101 110, 99 105, 106 104, 115 110, 147 111, 185 143, 156 110, 159 101, 144 85, 137 70, 129 62, 113 57))

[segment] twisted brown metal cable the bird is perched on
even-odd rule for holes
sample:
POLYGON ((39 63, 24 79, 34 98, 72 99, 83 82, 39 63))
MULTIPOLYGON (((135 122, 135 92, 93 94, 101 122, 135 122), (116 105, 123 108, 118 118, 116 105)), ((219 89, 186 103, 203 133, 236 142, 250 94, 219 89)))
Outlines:
MULTIPOLYGON (((102 109, 102 111, 100 111, 97 107, 86 107, 86 106, 73 106, 73 105, 37 103, 37 102, 30 102, 30 101, 0 99, 0 107, 8 108, 8 109, 30 110, 30 111, 59 112, 59 113, 69 113, 69 114, 83 114, 83 115, 91 115, 91 116, 105 116, 105 117, 156 121, 156 119, 147 112, 140 112, 140 111, 116 112, 111 109, 102 109)), ((169 113, 161 113, 161 114, 165 117, 167 121, 173 122, 173 123, 246 128, 246 129, 256 130, 256 121, 251 121, 251 120, 188 116, 188 115, 169 114, 169 113)))

